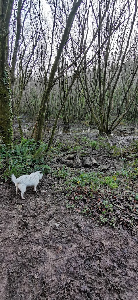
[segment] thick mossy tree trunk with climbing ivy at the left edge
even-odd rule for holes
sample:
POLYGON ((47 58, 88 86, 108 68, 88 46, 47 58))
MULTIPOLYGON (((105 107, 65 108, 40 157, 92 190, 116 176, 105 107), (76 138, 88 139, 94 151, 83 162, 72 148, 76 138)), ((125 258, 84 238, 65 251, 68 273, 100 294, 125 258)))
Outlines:
POLYGON ((0 132, 4 143, 13 141, 12 101, 8 76, 8 35, 14 0, 0 0, 0 132))

